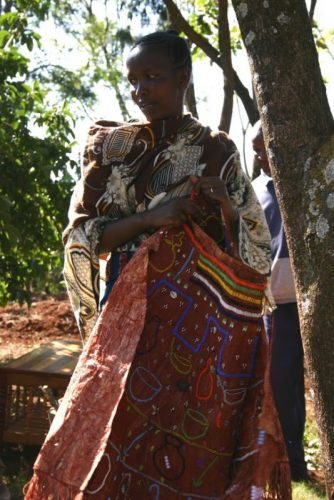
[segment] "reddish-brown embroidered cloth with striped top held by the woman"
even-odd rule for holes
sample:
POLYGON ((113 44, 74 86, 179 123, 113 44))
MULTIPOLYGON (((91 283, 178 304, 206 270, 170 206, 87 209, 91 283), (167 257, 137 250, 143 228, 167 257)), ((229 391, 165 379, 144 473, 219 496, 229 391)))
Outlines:
POLYGON ((27 499, 290 498, 261 327, 266 278, 195 233, 156 233, 123 271, 27 499))

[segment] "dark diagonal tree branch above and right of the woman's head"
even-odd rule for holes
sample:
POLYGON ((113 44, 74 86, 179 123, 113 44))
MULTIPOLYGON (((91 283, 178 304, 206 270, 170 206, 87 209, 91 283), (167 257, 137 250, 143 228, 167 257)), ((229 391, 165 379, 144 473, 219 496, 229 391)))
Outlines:
MULTIPOLYGON (((179 31, 183 31, 195 45, 197 45, 206 54, 212 62, 216 63, 223 69, 221 55, 215 47, 213 47, 204 36, 197 33, 190 24, 183 17, 180 9, 175 5, 173 0, 163 0, 168 10, 169 18, 172 20, 173 25, 177 26, 179 31)), ((240 97, 244 105, 248 119, 252 125, 259 119, 259 112, 254 104, 253 99, 249 95, 247 87, 243 85, 237 73, 233 71, 234 76, 234 89, 240 97)))

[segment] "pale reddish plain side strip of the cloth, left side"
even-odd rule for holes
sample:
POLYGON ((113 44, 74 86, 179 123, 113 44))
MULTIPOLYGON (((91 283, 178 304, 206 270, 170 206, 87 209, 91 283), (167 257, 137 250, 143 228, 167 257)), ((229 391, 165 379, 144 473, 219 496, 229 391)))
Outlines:
POLYGON ((103 455, 124 392, 146 315, 148 254, 159 248, 161 237, 162 233, 157 232, 147 240, 115 283, 37 457, 34 475, 25 487, 26 500, 83 498, 103 455), (122 314, 124 308, 126 316, 122 314), (104 383, 105 373, 110 380, 108 385, 104 383), (87 391, 92 385, 94 390, 89 393, 87 405, 87 391), (100 404, 98 422, 96 414, 90 411, 95 402, 100 404), (85 439, 74 438, 79 425, 85 439), (78 457, 85 457, 84 462, 79 464, 78 457))

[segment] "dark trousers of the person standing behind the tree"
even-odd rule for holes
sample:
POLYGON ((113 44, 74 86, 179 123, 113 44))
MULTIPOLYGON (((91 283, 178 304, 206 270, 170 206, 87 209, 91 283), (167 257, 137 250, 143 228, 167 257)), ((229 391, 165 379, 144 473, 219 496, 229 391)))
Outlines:
POLYGON ((271 379, 293 479, 306 475, 303 346, 297 304, 280 304, 264 325, 272 342, 271 379))

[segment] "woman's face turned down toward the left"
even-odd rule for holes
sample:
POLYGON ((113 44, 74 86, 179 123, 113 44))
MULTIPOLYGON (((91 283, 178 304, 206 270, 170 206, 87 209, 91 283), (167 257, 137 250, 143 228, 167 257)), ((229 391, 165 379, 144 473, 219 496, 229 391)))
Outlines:
POLYGON ((131 97, 148 121, 182 115, 188 72, 176 70, 158 46, 138 46, 127 60, 131 97))

